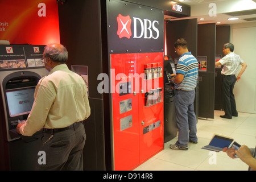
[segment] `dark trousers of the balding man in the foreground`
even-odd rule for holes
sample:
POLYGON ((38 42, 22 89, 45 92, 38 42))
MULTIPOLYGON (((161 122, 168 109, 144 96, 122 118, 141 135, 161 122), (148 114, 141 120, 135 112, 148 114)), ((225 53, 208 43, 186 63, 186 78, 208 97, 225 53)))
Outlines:
POLYGON ((82 150, 85 145, 85 130, 82 122, 63 131, 47 131, 42 138, 41 156, 36 164, 37 170, 81 171, 83 169, 82 150), (51 138, 51 136, 53 137, 51 138), (49 139, 51 138, 51 139, 49 139), (48 142, 47 142, 48 140, 48 142), (42 164, 42 160, 46 163, 42 164))

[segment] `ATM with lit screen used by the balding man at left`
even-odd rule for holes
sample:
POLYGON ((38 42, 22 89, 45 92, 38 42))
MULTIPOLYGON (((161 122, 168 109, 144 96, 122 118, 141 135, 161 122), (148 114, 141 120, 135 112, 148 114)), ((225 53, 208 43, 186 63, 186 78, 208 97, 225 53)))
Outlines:
POLYGON ((32 137, 16 133, 34 102, 35 87, 47 75, 40 59, 44 46, 0 45, 0 169, 33 170, 42 132, 32 137))

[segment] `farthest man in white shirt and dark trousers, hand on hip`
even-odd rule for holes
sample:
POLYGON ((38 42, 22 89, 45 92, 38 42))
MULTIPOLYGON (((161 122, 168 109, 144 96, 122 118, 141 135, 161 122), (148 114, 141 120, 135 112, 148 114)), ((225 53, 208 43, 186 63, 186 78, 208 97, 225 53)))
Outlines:
POLYGON ((239 55, 236 55, 234 51, 234 45, 232 43, 226 43, 223 47, 223 57, 220 61, 215 63, 215 66, 223 65, 222 75, 222 100, 225 115, 220 115, 221 118, 232 119, 232 116, 237 117, 236 100, 233 94, 234 84, 241 79, 242 73, 245 71, 247 65, 245 61, 241 59, 239 55), (239 66, 242 65, 241 71, 237 71, 239 66))

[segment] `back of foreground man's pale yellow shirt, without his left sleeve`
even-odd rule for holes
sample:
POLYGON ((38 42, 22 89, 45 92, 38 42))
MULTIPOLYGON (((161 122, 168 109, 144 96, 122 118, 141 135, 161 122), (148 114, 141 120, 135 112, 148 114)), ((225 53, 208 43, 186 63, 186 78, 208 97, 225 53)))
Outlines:
POLYGON ((59 128, 89 117, 90 107, 84 80, 62 64, 42 80, 40 86, 47 88, 53 104, 46 119, 46 128, 59 128))

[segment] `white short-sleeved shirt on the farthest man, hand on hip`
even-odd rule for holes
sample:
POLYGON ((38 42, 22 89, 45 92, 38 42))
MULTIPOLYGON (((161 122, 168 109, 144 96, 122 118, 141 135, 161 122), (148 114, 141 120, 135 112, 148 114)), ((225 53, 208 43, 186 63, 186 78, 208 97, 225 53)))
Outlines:
POLYGON ((222 75, 236 75, 240 64, 245 63, 245 61, 234 52, 228 53, 219 62, 221 65, 224 65, 221 70, 222 75))

